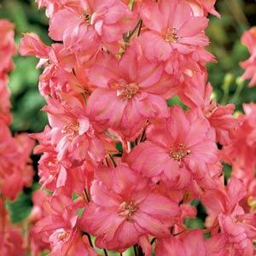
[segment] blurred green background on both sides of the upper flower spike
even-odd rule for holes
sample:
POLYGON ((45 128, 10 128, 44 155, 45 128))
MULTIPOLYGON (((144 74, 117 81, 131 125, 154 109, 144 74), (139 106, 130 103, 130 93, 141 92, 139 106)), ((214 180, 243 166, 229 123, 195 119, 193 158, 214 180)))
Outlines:
MULTIPOLYGON (((44 43, 50 44, 48 19, 44 9, 38 10, 33 0, 0 1, 0 18, 8 18, 15 23, 16 43, 23 32, 36 32, 44 43)), ((242 32, 256 25, 255 0, 218 0, 221 19, 211 16, 207 35, 212 44, 209 50, 218 63, 208 65, 209 80, 215 96, 220 103, 234 102, 241 111, 242 102, 256 102, 256 88, 247 89, 239 77, 243 72, 239 62, 247 59, 247 49, 241 45, 242 32)), ((15 71, 10 74, 9 87, 12 90, 14 123, 12 130, 42 131, 47 122, 40 108, 44 106, 43 97, 38 93, 38 76, 35 69, 37 60, 33 57, 15 56, 15 71)))

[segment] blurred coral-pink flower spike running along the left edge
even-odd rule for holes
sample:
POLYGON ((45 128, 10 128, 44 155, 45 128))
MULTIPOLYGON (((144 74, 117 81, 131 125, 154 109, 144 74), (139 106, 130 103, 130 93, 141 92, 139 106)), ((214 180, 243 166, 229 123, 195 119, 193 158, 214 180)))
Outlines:
POLYGON ((6 200, 15 200, 23 187, 32 183, 33 171, 29 156, 33 141, 26 134, 13 137, 9 102, 8 73, 15 54, 14 26, 0 20, 0 254, 25 255, 20 228, 10 223, 6 200))

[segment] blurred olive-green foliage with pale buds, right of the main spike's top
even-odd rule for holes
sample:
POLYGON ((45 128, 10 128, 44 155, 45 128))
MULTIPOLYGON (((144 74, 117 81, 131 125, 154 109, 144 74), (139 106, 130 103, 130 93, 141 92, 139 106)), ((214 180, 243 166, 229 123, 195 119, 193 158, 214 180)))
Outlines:
POLYGON ((236 103, 241 111, 243 102, 256 102, 256 88, 247 89, 247 82, 241 81, 241 61, 248 58, 247 48, 241 44, 242 33, 256 25, 256 3, 253 1, 217 1, 221 19, 211 17, 207 35, 211 44, 208 49, 217 58, 217 63, 208 65, 209 81, 217 101, 236 103), (227 83, 227 76, 230 79, 227 83))

